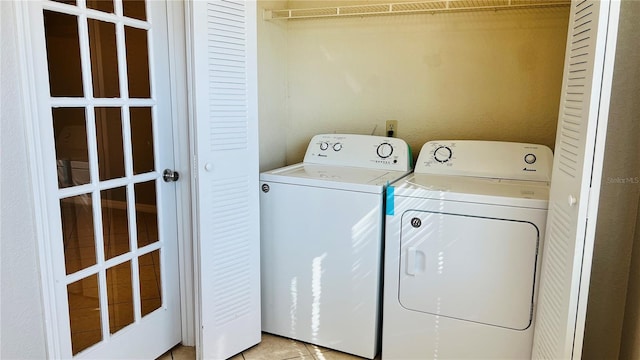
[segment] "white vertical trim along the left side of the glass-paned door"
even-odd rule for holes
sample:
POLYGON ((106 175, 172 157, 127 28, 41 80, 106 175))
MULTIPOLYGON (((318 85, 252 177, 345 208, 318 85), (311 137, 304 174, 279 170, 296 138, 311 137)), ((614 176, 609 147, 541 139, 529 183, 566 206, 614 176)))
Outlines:
POLYGON ((51 262, 51 233, 48 231, 50 227, 49 212, 46 204, 46 186, 44 180, 44 172, 42 169, 42 148, 41 136, 37 126, 38 119, 38 103, 35 84, 35 69, 33 63, 33 54, 31 51, 31 26, 29 16, 29 2, 15 1, 15 19, 16 32, 20 45, 18 45, 18 58, 20 66, 22 107, 25 119, 25 137, 27 143, 27 164, 29 178, 34 200, 34 222, 37 237, 38 263, 40 270, 40 286, 42 289, 42 309, 44 314, 44 335, 46 341, 47 358, 60 358, 60 333, 58 329, 58 313, 56 309, 56 294, 54 287, 54 271, 51 262))

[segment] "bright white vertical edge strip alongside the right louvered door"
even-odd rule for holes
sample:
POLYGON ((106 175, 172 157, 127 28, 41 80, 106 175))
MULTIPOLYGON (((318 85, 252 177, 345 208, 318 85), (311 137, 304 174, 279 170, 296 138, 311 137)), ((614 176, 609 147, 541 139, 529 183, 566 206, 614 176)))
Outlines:
MULTIPOLYGON (((620 1, 611 1, 607 24, 606 46, 602 70, 602 85, 598 109, 598 123, 594 139, 593 167, 591 173, 591 189, 588 194, 587 224, 585 231, 582 271, 580 275, 580 290, 578 293, 578 308, 576 312, 576 327, 573 337, 573 359, 582 358, 584 331, 587 318, 587 304, 589 302, 589 284, 591 282, 591 266, 596 240, 596 223, 598 205, 600 203, 600 189, 602 186, 602 172, 604 169, 604 153, 607 142, 607 126, 609 124, 609 108, 611 105, 611 89, 613 86, 613 68, 618 43, 618 24, 620 20, 620 1)), ((589 144, 587 144, 589 145, 589 144)))

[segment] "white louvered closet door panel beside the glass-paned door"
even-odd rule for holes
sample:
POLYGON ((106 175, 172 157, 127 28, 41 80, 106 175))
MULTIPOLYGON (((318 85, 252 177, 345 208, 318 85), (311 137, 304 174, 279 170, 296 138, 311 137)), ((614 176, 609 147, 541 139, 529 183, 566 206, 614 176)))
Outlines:
POLYGON ((191 3, 199 357, 260 342, 256 2, 191 3))

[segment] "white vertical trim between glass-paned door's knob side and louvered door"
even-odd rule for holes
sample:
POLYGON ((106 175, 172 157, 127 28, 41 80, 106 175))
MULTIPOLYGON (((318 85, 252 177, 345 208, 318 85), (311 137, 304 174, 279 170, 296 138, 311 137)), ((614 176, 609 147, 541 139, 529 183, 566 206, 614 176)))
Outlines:
POLYGON ((191 213, 191 161, 189 134, 190 107, 187 95, 187 64, 185 6, 183 2, 167 2, 169 40, 169 68, 171 82, 171 109, 173 118, 175 169, 183 174, 176 185, 176 211, 178 216, 178 256, 180 265, 180 307, 182 313, 182 344, 195 345, 194 281, 193 281, 193 227, 191 213))

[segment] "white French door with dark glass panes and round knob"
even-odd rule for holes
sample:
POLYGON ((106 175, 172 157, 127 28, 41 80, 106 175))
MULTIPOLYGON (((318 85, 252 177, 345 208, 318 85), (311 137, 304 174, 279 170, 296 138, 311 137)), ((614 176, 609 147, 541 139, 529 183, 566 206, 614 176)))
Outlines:
POLYGON ((25 5, 52 357, 150 359, 181 340, 166 6, 25 5))

